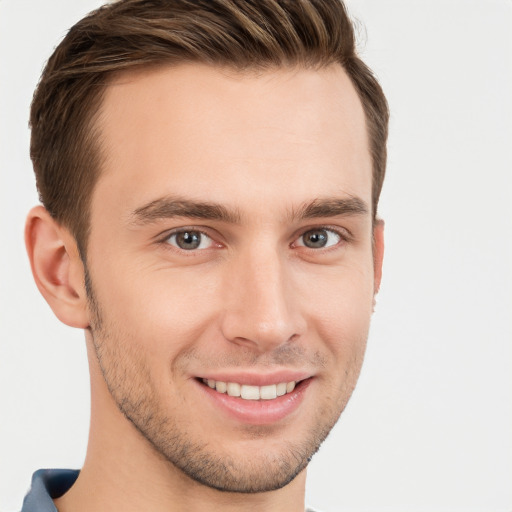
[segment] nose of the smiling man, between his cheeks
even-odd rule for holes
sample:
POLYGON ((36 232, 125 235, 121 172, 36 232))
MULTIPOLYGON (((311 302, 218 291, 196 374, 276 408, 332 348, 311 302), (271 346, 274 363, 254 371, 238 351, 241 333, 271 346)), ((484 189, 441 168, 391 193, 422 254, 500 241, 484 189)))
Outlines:
POLYGON ((225 279, 225 339, 264 353, 304 333, 306 322, 294 290, 293 272, 277 250, 240 256, 225 279))

